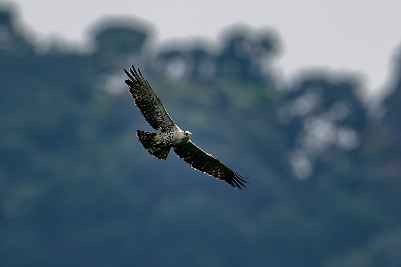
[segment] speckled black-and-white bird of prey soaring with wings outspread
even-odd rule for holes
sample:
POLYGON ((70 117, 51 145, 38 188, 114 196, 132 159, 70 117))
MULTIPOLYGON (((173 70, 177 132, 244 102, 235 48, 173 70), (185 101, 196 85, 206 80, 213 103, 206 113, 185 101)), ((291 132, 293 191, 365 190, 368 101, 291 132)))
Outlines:
POLYGON ((175 124, 147 79, 143 78, 140 69, 138 68, 136 71, 135 67, 131 66, 129 72, 124 69, 129 77, 125 80, 129 87, 129 93, 134 97, 135 104, 150 126, 155 130, 161 128, 161 133, 137 131, 139 141, 149 154, 165 160, 172 147, 178 157, 182 158, 193 169, 222 179, 234 188, 242 189, 241 186, 246 188, 245 183, 248 182, 244 180, 246 179, 244 176, 233 171, 220 160, 192 143, 190 140, 191 132, 182 131, 175 124))

